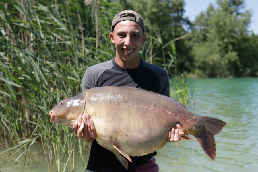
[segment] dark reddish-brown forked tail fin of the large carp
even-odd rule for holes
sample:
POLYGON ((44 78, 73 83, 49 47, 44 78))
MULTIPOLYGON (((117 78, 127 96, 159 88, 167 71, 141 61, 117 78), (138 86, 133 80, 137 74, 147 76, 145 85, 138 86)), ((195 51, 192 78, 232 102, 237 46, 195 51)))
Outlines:
POLYGON ((216 156, 216 142, 214 135, 219 134, 226 122, 207 116, 199 116, 203 120, 203 129, 200 134, 193 134, 204 152, 212 159, 216 156))

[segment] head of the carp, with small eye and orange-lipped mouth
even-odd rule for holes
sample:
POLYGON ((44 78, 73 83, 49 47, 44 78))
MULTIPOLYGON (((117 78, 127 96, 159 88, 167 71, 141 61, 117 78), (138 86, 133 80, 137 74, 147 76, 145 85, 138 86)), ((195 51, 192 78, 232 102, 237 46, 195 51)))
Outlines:
POLYGON ((80 93, 60 101, 49 111, 50 122, 69 126, 72 128, 73 122, 82 115, 85 109, 85 96, 80 93))

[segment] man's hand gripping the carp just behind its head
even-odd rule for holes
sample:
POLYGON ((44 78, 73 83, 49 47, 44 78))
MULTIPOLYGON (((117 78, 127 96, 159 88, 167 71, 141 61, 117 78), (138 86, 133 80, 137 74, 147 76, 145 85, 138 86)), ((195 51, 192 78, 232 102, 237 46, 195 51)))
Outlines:
POLYGON ((90 114, 84 113, 82 116, 80 115, 78 117, 77 122, 73 125, 73 132, 83 141, 92 142, 95 140, 97 133, 95 130, 94 122, 90 118, 90 114), (81 126, 83 128, 80 130, 81 126))

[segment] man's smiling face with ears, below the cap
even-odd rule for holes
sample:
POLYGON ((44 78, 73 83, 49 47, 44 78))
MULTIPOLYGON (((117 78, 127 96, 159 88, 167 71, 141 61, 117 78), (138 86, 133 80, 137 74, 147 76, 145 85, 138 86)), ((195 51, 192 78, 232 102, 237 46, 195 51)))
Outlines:
POLYGON ((116 47, 116 57, 123 62, 136 62, 139 60, 139 50, 146 40, 143 29, 134 21, 119 22, 109 37, 116 47))

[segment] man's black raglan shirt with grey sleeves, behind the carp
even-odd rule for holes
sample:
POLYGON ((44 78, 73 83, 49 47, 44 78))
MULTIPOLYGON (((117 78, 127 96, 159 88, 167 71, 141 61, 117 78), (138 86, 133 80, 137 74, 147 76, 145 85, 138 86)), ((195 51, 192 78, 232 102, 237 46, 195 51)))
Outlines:
MULTIPOLYGON (((139 67, 125 69, 116 64, 115 60, 96 64, 89 67, 82 79, 82 91, 102 86, 128 86, 146 89, 169 97, 169 79, 166 69, 141 60, 139 67)), ((115 118, 115 116, 114 116, 115 118)), ((108 124, 107 124, 108 125, 108 124)), ((139 131, 141 133, 141 131, 139 131)), ((94 172, 129 172, 135 171, 150 158, 156 155, 153 152, 142 157, 131 157, 128 161, 128 170, 123 167, 114 153, 100 146, 96 140, 92 142, 90 157, 86 170, 94 172)))

